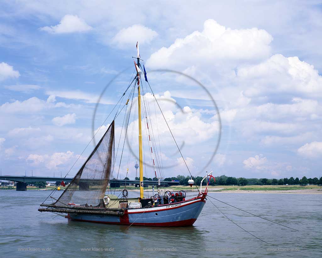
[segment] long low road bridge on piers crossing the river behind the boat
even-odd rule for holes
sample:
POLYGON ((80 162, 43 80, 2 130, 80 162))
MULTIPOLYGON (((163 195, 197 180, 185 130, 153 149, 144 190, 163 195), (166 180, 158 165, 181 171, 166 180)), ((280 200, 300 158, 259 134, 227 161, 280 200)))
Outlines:
MULTIPOLYGON (((27 183, 31 182, 71 182, 73 178, 63 178, 63 177, 45 177, 45 176, 16 176, 16 175, 1 175, 0 180, 7 180, 7 181, 14 181, 17 182, 17 191, 26 191, 27 190, 27 183)), ((84 190, 89 188, 88 182, 97 182, 95 179, 80 179, 82 182, 82 187, 84 190)), ((110 179, 109 180, 111 187, 120 187, 121 184, 135 184, 139 185, 139 180, 121 180, 121 179, 110 179)), ((158 181, 143 181, 143 186, 147 187, 148 185, 158 185, 158 181)), ((165 185, 166 187, 170 185, 179 185, 179 182, 173 181, 161 181, 161 185, 165 185)))

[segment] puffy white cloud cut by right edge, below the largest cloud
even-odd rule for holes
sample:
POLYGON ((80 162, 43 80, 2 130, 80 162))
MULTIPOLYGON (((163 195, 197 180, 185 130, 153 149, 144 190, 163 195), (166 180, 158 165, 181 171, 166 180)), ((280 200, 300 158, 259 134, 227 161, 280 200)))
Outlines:
POLYGON ((246 80, 246 96, 291 92, 316 97, 322 95, 322 76, 314 67, 298 57, 273 55, 260 64, 238 68, 238 77, 246 80))

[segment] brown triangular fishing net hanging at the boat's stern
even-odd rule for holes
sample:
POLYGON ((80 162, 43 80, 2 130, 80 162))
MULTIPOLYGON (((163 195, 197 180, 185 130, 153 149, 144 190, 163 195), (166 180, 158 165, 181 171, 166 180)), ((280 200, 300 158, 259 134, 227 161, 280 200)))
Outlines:
POLYGON ((104 207, 104 194, 114 166, 114 120, 71 183, 55 202, 104 207))

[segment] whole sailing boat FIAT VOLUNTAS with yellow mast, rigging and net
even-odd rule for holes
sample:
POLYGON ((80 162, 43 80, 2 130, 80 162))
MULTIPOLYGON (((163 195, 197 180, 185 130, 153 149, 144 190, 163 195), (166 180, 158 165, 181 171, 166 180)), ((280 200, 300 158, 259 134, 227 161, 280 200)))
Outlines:
MULTIPOLYGON (((55 199, 52 195, 50 195, 49 197, 54 200, 52 204, 45 203, 45 201, 48 199, 47 198, 40 205, 41 207, 46 208, 39 208, 39 211, 66 213, 67 216, 65 216, 65 218, 76 221, 155 227, 192 226, 200 215, 207 200, 206 197, 208 192, 208 184, 210 179, 213 178, 212 172, 207 173, 201 181, 198 194, 195 197, 188 199, 185 191, 166 191, 165 187, 164 191, 161 190, 161 179, 163 178, 157 178, 155 161, 153 158, 154 173, 156 179, 158 179, 159 186, 156 194, 153 192, 153 196, 144 197, 145 185, 143 180, 141 107, 141 98, 144 98, 144 94, 141 95, 141 92, 143 92, 144 89, 142 88, 141 82, 142 66, 140 64, 140 60, 142 59, 140 59, 138 43, 136 59, 137 62, 134 60, 134 73, 136 76, 132 81, 134 85, 129 97, 127 99, 123 98, 124 102, 126 102, 123 107, 128 105, 131 96, 133 100, 134 92, 136 92, 137 89, 140 197, 128 198, 128 191, 126 189, 121 192, 121 197, 121 194, 118 197, 115 195, 106 194, 109 179, 113 174, 115 165, 114 118, 109 125, 109 128, 99 140, 85 163, 81 166, 80 170, 76 173, 70 184, 66 187, 62 195, 58 199, 55 199), (202 191, 202 183, 205 179, 207 182, 206 188, 204 191, 202 191)), ((147 73, 144 65, 142 70, 144 71, 145 81, 148 83, 147 73)), ((131 84, 129 84, 128 88, 123 94, 123 97, 127 93, 131 84)), ((145 118, 147 119, 147 113, 145 115, 145 118)), ((117 117, 117 115, 115 117, 117 117)), ((148 123, 147 129, 149 130, 148 123)), ((150 141, 151 138, 152 137, 150 137, 149 134, 148 139, 150 141)), ((152 144, 149 144, 149 146, 151 146, 151 153, 153 154, 152 144)), ((62 184, 64 184, 63 181, 62 184)), ((190 186, 194 184, 192 177, 189 180, 189 184, 190 186)))

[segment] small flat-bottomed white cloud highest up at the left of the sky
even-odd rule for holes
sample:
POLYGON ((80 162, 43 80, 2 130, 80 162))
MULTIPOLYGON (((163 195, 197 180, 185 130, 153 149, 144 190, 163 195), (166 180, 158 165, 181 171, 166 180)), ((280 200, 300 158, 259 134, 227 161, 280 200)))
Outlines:
POLYGON ((92 30, 83 19, 79 18, 77 15, 66 14, 62 17, 59 24, 55 26, 46 26, 40 28, 42 31, 47 31, 49 33, 72 33, 72 32, 87 32, 92 30))

